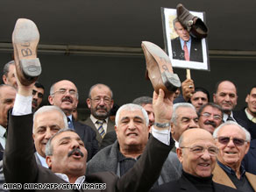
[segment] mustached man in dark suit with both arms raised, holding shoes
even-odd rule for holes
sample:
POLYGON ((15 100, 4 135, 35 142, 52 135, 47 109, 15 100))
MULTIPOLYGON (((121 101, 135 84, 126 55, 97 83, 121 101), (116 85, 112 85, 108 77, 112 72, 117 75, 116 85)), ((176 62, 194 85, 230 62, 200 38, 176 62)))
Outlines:
MULTIPOLYGON (((32 85, 22 86, 18 82, 18 88, 18 95, 29 97, 32 93, 32 85)), ((157 96, 155 93, 154 98, 156 121, 158 124, 165 124, 165 128, 163 128, 163 125, 159 125, 160 127, 156 126, 155 129, 157 131, 155 134, 157 135, 157 132, 160 132, 160 135, 163 135, 163 132, 169 129, 169 125, 166 124, 172 115, 173 96, 164 98, 164 92, 160 90, 160 95, 157 96)), ((20 102, 20 100, 17 102, 20 102)), ((16 109, 15 104, 11 112, 10 130, 8 132, 9 139, 4 156, 4 175, 6 182, 9 183, 68 184, 70 182, 81 185, 85 183, 98 183, 97 186, 90 185, 98 188, 93 191, 146 192, 159 176, 162 164, 172 146, 174 146, 174 141, 168 139, 168 133, 164 139, 166 141, 163 141, 167 145, 155 139, 153 135, 154 137, 148 142, 145 153, 142 154, 136 165, 132 167, 132 170, 122 178, 118 179, 117 175, 110 172, 96 173, 86 175, 85 177, 87 151, 82 139, 73 130, 61 130, 47 143, 46 162, 50 167, 50 169, 47 169, 37 165, 33 156, 31 108, 31 105, 28 103, 25 106, 25 110, 21 112, 16 109)), ((138 120, 142 114, 138 110, 120 114, 120 126, 132 126, 132 124, 127 124, 127 121, 125 121, 127 116, 138 120)), ((141 121, 138 123, 145 124, 145 122, 141 121)), ((131 135, 131 137, 133 136, 131 135)), ((56 185, 54 184, 53 186, 56 185)), ((84 186, 82 185, 82 189, 80 186, 80 191, 92 191, 85 189, 84 186)), ((55 191, 54 188, 52 188, 52 191, 55 191)), ((75 190, 69 189, 68 191, 75 190)))

